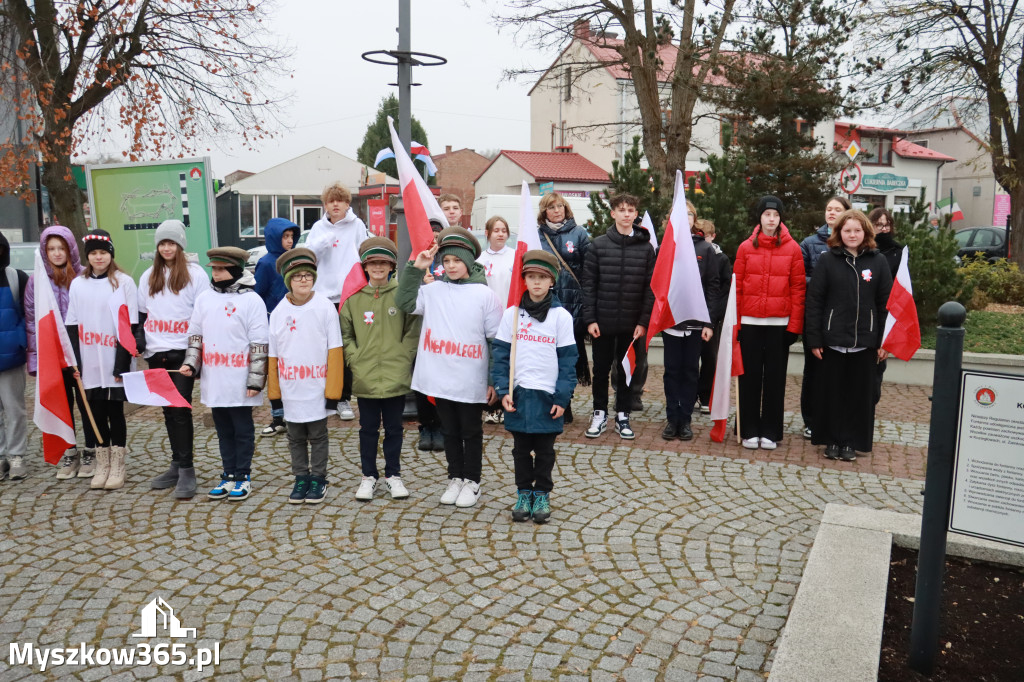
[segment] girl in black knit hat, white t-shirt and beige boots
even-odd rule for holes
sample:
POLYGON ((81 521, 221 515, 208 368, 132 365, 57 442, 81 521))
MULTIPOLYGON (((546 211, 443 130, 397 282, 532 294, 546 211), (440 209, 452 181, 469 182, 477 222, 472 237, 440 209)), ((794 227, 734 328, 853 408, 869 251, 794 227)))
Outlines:
POLYGON ((81 368, 85 398, 96 422, 93 489, 113 491, 125 483, 125 389, 121 375, 135 369, 135 329, 120 329, 122 308, 132 328, 138 325, 138 292, 135 282, 114 261, 114 243, 102 229, 82 238, 86 263, 82 274, 71 283, 68 302, 68 335, 81 368), (131 346, 131 350, 125 346, 131 346))

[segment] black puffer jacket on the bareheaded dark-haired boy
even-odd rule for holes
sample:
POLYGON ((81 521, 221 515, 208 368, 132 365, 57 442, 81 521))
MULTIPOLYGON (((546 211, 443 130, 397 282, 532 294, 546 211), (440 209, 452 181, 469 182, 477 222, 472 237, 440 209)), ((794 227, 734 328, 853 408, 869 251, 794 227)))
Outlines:
POLYGON ((584 325, 597 323, 602 335, 647 327, 654 307, 654 260, 650 232, 643 227, 629 237, 610 227, 594 240, 583 270, 584 325))

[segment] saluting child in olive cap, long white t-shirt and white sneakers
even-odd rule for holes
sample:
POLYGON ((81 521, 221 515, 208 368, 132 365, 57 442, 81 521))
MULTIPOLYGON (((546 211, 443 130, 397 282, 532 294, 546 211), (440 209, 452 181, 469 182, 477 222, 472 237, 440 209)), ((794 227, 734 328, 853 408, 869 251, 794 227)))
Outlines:
POLYGON ((464 227, 449 227, 437 244, 420 252, 406 268, 395 301, 406 312, 423 315, 413 389, 433 396, 444 434, 449 482, 443 505, 472 507, 480 497, 483 463, 483 406, 495 396, 487 385, 487 339, 494 338, 503 305, 487 287, 476 262, 480 245, 464 227), (443 275, 423 285, 434 255, 443 275))

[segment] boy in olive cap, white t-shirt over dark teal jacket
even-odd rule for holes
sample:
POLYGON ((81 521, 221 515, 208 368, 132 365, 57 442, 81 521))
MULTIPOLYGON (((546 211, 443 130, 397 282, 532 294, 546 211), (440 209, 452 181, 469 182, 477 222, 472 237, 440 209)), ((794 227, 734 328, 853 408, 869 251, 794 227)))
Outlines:
POLYGON ((551 516, 548 496, 554 483, 555 438, 575 388, 579 351, 572 314, 562 307, 552 288, 558 280, 558 259, 547 251, 522 256, 526 291, 518 308, 502 315, 495 337, 492 384, 505 408, 505 428, 512 433, 517 499, 513 521, 544 523, 551 516), (515 376, 509 385, 511 359, 515 376))

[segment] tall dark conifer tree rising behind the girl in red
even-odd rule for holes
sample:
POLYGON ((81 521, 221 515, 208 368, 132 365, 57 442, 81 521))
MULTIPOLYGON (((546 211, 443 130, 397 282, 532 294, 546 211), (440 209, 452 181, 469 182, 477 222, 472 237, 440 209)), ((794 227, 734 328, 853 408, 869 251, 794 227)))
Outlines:
POLYGON ((842 112, 840 65, 847 0, 758 1, 753 20, 740 32, 740 51, 724 59, 731 87, 716 100, 732 114, 735 143, 746 159, 752 209, 758 198, 774 195, 785 204, 786 227, 802 239, 821 224, 835 194, 841 157, 831 148, 828 127, 842 112), (827 148, 815 140, 824 132, 827 148))

